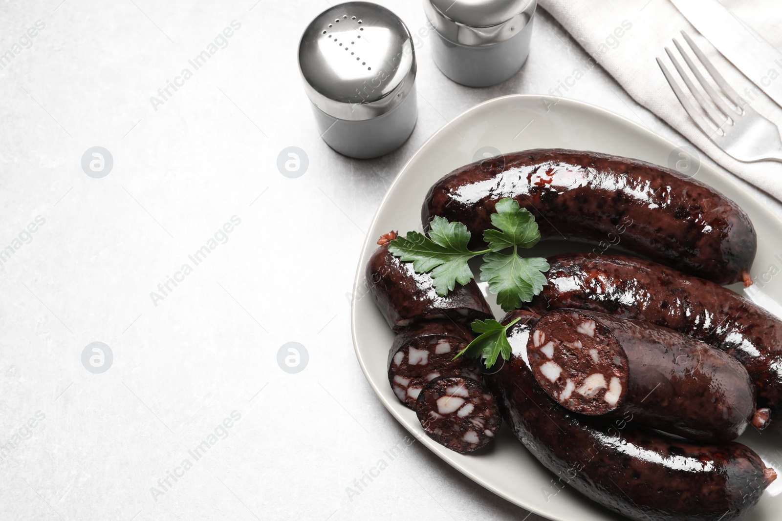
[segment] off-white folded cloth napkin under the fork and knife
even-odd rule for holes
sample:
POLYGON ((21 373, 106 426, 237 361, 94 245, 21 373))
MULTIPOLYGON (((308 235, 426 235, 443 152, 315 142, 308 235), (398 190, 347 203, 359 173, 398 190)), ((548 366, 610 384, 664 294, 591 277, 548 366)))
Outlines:
MULTIPOLYGON (((723 5, 771 45, 782 50, 782 9, 779 9, 779 0, 723 0, 723 5)), ((600 63, 633 99, 669 123, 726 170, 782 201, 782 163, 739 162, 709 141, 684 112, 655 58, 659 56, 683 86, 664 48, 670 48, 687 70, 673 45, 673 38, 676 37, 683 48, 690 52, 680 34, 681 30, 686 30, 739 95, 780 129, 782 108, 719 54, 670 0, 540 0, 540 6, 579 41, 592 57, 590 62, 600 63)), ((694 58, 694 55, 691 56, 694 58)), ((782 81, 782 66, 777 66, 776 72, 779 74, 777 81, 782 81)), ((687 87, 683 89, 687 91, 687 87)), ((549 94, 558 93, 554 91, 549 94)), ((559 94, 565 95, 561 88, 559 94)))

